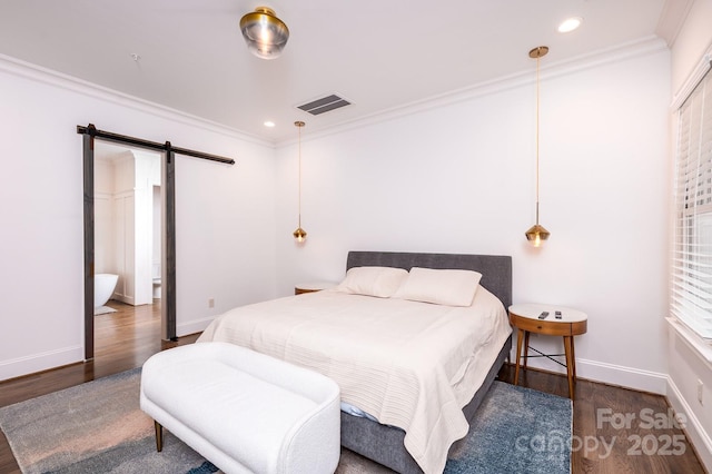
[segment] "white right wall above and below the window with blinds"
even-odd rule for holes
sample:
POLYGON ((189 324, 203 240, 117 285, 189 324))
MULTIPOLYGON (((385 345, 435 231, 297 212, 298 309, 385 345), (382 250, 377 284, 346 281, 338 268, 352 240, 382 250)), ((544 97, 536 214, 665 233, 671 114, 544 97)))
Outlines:
MULTIPOLYGON (((699 71, 699 66, 709 55, 712 57, 712 0, 695 0, 688 18, 671 48, 672 93, 682 97, 686 82, 699 71)), ((679 103, 678 103, 679 105, 679 103)), ((674 113, 674 110, 671 110, 674 113)), ((674 124, 672 132, 674 134, 674 124)), ((674 145, 674 144, 673 144, 674 145)), ((674 146, 671 147, 669 168, 672 172, 674 146)), ((671 194, 672 196, 672 194, 671 194)), ((672 206, 672 199, 671 204, 672 206)), ((712 471, 712 363, 681 337, 681 333, 670 328, 668 356, 670 359, 668 398, 678 413, 688 419, 686 432, 693 441, 700 457, 712 471), (703 403, 698 401, 698 381, 703 383, 703 403)), ((704 346, 704 344, 702 345, 704 346)), ((706 346, 708 354, 712 352, 706 346)))

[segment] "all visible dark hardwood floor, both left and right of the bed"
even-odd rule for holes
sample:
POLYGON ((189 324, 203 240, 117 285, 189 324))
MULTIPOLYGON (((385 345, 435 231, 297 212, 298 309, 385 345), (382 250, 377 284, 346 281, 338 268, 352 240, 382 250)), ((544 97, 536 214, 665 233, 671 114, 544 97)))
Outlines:
MULTIPOLYGON (((93 361, 0 382, 0 406, 138 367, 152 354, 192 344, 198 337, 196 334, 176 343, 161 342, 158 305, 136 308, 116 302, 109 305, 119 310, 97 316, 93 361)), ((500 379, 512 383, 514 367, 505 365, 500 379)), ((563 397, 568 393, 565 376, 540 371, 524 371, 520 384, 563 397)), ((705 473, 684 432, 671 426, 668 409, 666 399, 660 395, 578 381, 572 472, 705 473)), ((0 474, 16 473, 20 470, 2 435, 0 474)))

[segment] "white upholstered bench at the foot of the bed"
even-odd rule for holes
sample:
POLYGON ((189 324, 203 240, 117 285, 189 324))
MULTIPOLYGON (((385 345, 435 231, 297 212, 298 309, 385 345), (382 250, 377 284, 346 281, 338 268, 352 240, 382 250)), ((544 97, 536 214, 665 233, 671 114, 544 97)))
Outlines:
POLYGON ((226 343, 151 356, 141 409, 226 473, 333 473, 339 388, 330 378, 226 343))

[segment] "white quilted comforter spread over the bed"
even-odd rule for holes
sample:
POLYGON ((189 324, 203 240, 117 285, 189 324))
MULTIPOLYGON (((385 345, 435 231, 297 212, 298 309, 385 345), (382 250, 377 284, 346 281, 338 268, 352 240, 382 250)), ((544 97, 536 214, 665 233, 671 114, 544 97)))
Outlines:
POLYGON ((231 309, 198 342, 238 344, 332 377, 342 401, 403 428, 406 450, 431 474, 467 434, 462 408, 511 332, 483 287, 469 307, 325 290, 231 309))

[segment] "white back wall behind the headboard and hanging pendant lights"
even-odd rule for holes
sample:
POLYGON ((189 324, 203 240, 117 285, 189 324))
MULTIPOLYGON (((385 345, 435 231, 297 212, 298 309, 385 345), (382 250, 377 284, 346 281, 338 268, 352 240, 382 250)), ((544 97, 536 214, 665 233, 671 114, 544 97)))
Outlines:
MULTIPOLYGON (((514 303, 589 314, 585 378, 664 393, 670 58, 662 42, 542 63, 541 224, 535 220, 532 73, 453 103, 303 139, 278 150, 278 293, 339 280, 349 249, 513 256, 514 303)), ((308 130, 309 124, 305 130, 308 130)), ((532 337, 540 349, 561 340, 532 337)), ((563 371, 548 361, 533 363, 563 371)))

